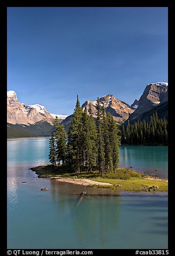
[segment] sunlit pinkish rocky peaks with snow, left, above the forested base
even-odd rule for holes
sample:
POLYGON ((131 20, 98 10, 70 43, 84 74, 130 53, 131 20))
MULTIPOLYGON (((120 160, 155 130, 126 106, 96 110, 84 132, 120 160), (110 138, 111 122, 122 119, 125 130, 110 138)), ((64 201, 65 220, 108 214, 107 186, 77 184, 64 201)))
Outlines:
MULTIPOLYGON (((20 103, 17 94, 13 90, 7 92, 7 112, 7 121, 10 124, 30 125, 43 121, 53 125, 53 120, 55 119, 54 114, 51 115, 45 106, 20 103)), ((59 117, 59 119, 64 118, 64 116, 59 117)))

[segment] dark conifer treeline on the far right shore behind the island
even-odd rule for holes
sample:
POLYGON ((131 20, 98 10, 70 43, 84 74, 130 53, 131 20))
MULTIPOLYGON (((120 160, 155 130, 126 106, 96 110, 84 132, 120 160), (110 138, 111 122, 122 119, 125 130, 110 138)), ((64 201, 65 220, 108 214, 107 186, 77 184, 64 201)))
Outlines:
POLYGON ((157 112, 154 113, 150 122, 137 120, 134 124, 120 126, 121 144, 129 145, 167 145, 168 141, 168 121, 158 119, 157 112))

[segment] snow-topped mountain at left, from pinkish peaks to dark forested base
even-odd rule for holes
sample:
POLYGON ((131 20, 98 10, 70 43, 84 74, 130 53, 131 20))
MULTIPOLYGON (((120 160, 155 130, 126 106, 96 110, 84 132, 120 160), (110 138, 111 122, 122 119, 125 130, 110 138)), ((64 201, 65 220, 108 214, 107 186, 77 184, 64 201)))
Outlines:
POLYGON ((51 114, 40 104, 20 103, 15 91, 7 92, 8 138, 50 136, 56 116, 59 122, 67 117, 51 114))

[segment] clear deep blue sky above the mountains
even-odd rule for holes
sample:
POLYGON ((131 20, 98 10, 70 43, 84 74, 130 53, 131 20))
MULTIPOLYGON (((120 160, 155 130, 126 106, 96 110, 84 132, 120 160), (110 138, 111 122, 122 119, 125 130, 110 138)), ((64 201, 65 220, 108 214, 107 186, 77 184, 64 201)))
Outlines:
POLYGON ((8 8, 8 90, 70 115, 112 94, 132 104, 167 82, 167 8, 8 8))

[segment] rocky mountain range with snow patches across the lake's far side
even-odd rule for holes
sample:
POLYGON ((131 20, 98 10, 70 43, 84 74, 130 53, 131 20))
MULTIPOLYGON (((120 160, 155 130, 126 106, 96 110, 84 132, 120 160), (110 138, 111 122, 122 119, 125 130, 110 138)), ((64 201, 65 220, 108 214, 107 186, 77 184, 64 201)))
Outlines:
MULTIPOLYGON (((101 106, 105 106, 106 112, 110 112, 113 118, 119 124, 130 120, 148 120, 150 115, 156 112, 160 118, 167 118, 168 102, 168 83, 157 82, 150 83, 145 87, 142 96, 135 99, 130 106, 120 101, 113 95, 107 95, 100 98, 101 106)), ((94 119, 97 117, 97 101, 85 101, 82 105, 85 108, 92 109, 94 119)), ((64 125, 68 132, 71 120, 74 115, 55 115, 49 113, 46 108, 39 104, 25 105, 20 103, 14 91, 8 91, 8 134, 10 137, 31 137, 31 136, 49 136, 53 131, 53 120, 57 116, 59 122, 64 125), (23 134, 20 136, 20 134, 23 134)))

